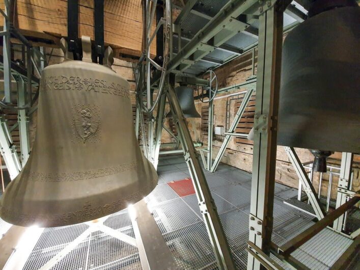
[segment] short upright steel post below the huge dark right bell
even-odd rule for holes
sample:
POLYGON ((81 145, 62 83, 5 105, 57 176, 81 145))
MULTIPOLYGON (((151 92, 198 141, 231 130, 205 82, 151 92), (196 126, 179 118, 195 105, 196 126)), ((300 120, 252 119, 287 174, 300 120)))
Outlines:
MULTIPOLYGON (((340 176, 338 183, 338 195, 336 198, 336 208, 346 203, 346 194, 341 190, 351 189, 351 166, 352 166, 352 153, 343 152, 341 157, 340 176)), ((342 231, 344 223, 344 215, 342 214, 337 220, 334 221, 333 228, 338 231, 342 231)))

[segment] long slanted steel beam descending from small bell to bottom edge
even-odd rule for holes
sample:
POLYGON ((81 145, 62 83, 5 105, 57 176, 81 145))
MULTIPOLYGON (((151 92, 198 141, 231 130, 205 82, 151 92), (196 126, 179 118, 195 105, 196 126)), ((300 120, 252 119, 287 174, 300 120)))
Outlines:
POLYGON ((215 202, 212 199, 209 186, 206 182, 204 172, 200 166, 199 157, 193 146, 189 129, 182 114, 179 100, 175 94, 175 74, 170 74, 170 84, 167 92, 168 100, 177 118, 176 128, 183 147, 184 158, 190 172, 192 184, 195 187, 199 207, 203 214, 204 222, 210 237, 211 245, 215 253, 215 258, 219 269, 235 269, 235 263, 226 239, 223 226, 217 214, 215 202))

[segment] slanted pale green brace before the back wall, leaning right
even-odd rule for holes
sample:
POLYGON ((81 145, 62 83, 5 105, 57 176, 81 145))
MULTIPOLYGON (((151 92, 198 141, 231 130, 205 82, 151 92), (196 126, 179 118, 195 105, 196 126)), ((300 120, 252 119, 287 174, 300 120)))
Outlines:
POLYGON ((244 113, 244 111, 246 109, 246 106, 247 106, 248 102, 250 101, 250 98, 251 98, 251 96, 252 96, 252 94, 254 92, 254 88, 255 88, 255 85, 253 85, 252 88, 247 90, 247 92, 246 92, 246 94, 244 96, 244 99, 242 100, 241 105, 239 106, 239 109, 237 110, 237 113, 236 113, 236 115, 234 117, 233 123, 231 124, 231 126, 229 128, 229 131, 226 132, 227 134, 225 136, 224 142, 221 145, 220 150, 217 153, 217 156, 216 156, 216 158, 214 160, 214 163, 213 163, 212 167, 209 169, 209 171, 211 171, 211 172, 216 171, 216 168, 219 165, 221 158, 223 158, 225 150, 226 150, 226 148, 228 147, 228 145, 230 143, 230 139, 232 138, 232 136, 233 136, 233 134, 235 132, 237 124, 239 123, 239 121, 240 121, 240 119, 242 117, 242 114, 244 113))

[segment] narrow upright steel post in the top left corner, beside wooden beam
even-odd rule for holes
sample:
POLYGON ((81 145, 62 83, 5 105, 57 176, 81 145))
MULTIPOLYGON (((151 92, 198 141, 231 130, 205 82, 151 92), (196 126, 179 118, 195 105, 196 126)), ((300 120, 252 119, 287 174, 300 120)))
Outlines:
POLYGON ((4 26, 3 31, 6 32, 3 36, 3 65, 4 65, 4 91, 5 91, 5 102, 11 103, 12 92, 11 92, 11 51, 10 51, 10 6, 11 0, 4 1, 5 11, 4 13, 4 26))

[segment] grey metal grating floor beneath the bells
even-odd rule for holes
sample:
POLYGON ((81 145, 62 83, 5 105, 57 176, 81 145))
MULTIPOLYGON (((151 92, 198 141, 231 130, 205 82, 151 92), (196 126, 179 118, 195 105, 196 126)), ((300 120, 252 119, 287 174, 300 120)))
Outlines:
MULTIPOLYGON (((158 174, 159 183, 147 197, 148 206, 178 268, 217 269, 196 195, 180 197, 168 184, 189 177, 184 158, 162 157, 158 174)), ((215 173, 206 171, 205 174, 236 266, 238 269, 246 269, 245 248, 248 239, 251 174, 225 164, 220 164, 215 173)), ((185 185, 188 182, 182 181, 177 184, 185 185)), ((276 183, 272 239, 277 245, 283 244, 314 224, 311 215, 284 203, 284 200, 296 195, 297 191, 294 188, 276 183)), ((134 237, 127 209, 110 215, 104 225, 134 237)), ((0 233, 4 233, 3 230, 7 230, 7 227, 8 225, 0 220, 0 233)), ((88 225, 79 224, 45 229, 24 269, 39 269, 87 228, 88 225)), ((329 269, 351 242, 352 240, 325 229, 292 255, 311 269, 329 269)), ((281 261, 279 263, 287 268, 281 261)), ((356 264, 354 266, 351 264, 349 267, 356 268, 356 264)), ((95 231, 51 269, 142 269, 142 267, 137 248, 101 231, 95 231)))

